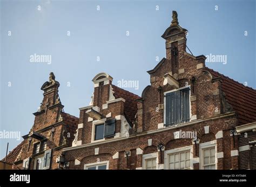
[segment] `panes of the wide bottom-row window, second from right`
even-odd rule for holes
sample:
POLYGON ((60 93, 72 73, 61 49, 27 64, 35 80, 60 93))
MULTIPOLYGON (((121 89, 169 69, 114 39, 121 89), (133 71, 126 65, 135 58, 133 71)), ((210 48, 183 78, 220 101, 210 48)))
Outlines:
POLYGON ((169 169, 190 169, 190 150, 170 154, 169 169))

